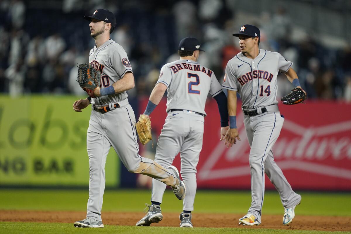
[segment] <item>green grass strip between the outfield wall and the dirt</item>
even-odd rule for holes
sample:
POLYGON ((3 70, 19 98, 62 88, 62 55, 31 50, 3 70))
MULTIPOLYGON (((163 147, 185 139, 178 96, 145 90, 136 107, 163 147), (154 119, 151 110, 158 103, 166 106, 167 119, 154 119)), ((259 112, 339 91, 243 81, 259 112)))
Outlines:
MULTIPOLYGON (((299 214, 304 215, 346 215, 351 216, 350 193, 311 193, 300 192, 302 203, 299 214)), ((141 212, 145 203, 150 203, 149 190, 105 191, 102 211, 141 212)), ((88 191, 79 190, 0 190, 0 209, 43 210, 43 211, 86 211, 88 191)), ((166 190, 162 210, 179 212, 182 201, 166 190)), ((249 191, 198 191, 194 209, 198 213, 247 212, 251 204, 249 191)), ((266 192, 262 212, 282 214, 284 212, 277 192, 266 192)))

